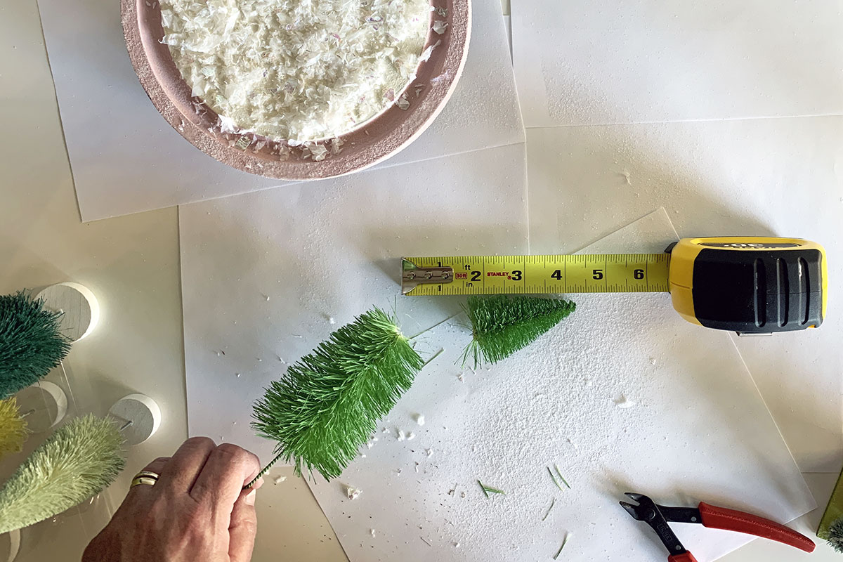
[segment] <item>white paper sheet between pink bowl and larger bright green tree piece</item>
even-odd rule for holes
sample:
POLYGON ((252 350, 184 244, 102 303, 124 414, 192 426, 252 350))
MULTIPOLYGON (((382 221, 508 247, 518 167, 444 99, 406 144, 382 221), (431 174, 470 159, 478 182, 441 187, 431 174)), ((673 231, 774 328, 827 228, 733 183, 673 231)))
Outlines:
POLYGON ((407 334, 459 310, 400 298, 402 255, 521 254, 526 220, 523 144, 180 206, 191 435, 268 462, 252 403, 287 363, 373 305, 407 334))

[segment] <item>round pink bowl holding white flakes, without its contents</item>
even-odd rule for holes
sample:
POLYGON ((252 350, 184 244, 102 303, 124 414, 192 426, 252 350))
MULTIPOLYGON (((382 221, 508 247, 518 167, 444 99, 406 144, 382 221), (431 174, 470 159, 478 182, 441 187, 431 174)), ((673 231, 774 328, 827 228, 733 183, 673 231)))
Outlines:
MULTIPOLYGON (((160 5, 154 0, 121 0, 123 32, 137 78, 164 119, 203 153, 234 168, 278 179, 319 179, 350 174, 398 153, 413 142, 436 118, 454 91, 468 52, 470 0, 438 0, 447 15, 431 12, 448 22, 443 35, 428 31, 425 46, 441 41, 427 62, 418 68, 408 88, 410 107, 393 104, 388 110, 339 138, 339 153, 329 152, 314 162, 308 150, 271 142, 253 133, 223 133, 217 114, 198 98, 181 78, 164 37, 160 5), (418 91, 413 84, 423 84, 418 91)), ((397 96, 396 96, 397 99, 397 96)), ((330 148, 330 145, 326 145, 330 148)))

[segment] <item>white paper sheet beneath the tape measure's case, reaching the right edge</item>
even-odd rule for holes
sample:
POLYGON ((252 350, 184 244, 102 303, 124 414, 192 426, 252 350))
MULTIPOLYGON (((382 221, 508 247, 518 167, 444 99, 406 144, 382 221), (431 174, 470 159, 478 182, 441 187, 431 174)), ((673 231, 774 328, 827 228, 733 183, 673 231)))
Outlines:
POLYGON ((819 329, 736 338, 803 472, 840 472, 843 117, 529 129, 530 249, 570 252, 664 206, 680 237, 808 238, 829 258, 819 329))

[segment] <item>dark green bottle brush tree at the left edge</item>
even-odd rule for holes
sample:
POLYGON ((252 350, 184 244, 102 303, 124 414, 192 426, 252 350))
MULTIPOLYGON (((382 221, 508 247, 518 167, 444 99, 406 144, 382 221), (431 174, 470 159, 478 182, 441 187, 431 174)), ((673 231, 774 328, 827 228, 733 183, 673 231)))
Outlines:
POLYGON ((0 296, 0 399, 58 367, 71 341, 59 333, 61 313, 24 292, 0 296))

